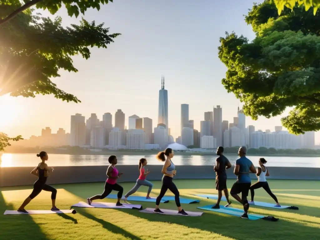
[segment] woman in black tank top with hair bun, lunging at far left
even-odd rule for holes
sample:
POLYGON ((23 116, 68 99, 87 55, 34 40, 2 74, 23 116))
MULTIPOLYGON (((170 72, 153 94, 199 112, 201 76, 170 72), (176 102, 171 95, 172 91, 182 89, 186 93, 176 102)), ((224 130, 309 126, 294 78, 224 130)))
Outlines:
POLYGON ((53 167, 49 168, 48 165, 45 163, 45 161, 48 160, 48 154, 46 152, 40 152, 39 154, 37 154, 37 157, 40 157, 42 162, 38 164, 37 167, 35 167, 31 174, 34 174, 36 176, 38 176, 38 180, 35 181, 35 183, 33 184, 33 191, 30 194, 30 196, 28 196, 26 198, 26 200, 24 200, 23 204, 20 206, 20 208, 18 209, 18 212, 23 212, 23 213, 28 213, 24 208, 25 206, 27 206, 28 203, 30 203, 30 201, 35 198, 36 196, 38 196, 38 194, 44 190, 44 191, 48 191, 51 192, 51 199, 52 199, 52 208, 51 211, 59 211, 59 208, 57 208, 55 206, 56 203, 56 196, 57 196, 57 189, 45 184, 48 178, 48 174, 53 172, 53 167))

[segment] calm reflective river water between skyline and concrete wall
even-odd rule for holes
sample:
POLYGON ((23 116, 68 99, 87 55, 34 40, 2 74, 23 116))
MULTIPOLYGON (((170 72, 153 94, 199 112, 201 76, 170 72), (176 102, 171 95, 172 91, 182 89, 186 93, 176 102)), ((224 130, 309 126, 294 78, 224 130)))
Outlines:
MULTIPOLYGON (((108 165, 108 155, 63 155, 49 154, 49 166, 92 166, 108 165)), ((145 157, 148 164, 162 164, 156 160, 156 155, 117 155, 119 165, 138 165, 139 159, 145 157)), ((231 164, 238 156, 226 155, 231 164)), ((247 156, 255 166, 258 166, 260 156, 247 156)), ((172 162, 175 165, 214 165, 216 156, 210 155, 175 155, 172 162)), ((316 167, 320 168, 320 157, 294 157, 294 156, 267 156, 267 166, 275 167, 316 167)), ((10 154, 4 153, 1 157, 1 167, 34 167, 40 159, 36 154, 10 154)))

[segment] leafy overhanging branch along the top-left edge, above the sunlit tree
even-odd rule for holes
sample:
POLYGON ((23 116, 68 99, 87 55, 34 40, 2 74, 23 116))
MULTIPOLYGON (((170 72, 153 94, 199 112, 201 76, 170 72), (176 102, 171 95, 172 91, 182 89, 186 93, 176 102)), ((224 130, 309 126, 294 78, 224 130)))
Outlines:
POLYGON ((109 1, 113 2, 113 0, 23 0, 24 4, 22 4, 20 0, 0 0, 1 8, 5 8, 3 14, 0 15, 0 25, 34 5, 38 9, 48 9, 51 14, 58 12, 64 5, 69 16, 77 17, 80 12, 84 14, 88 8, 95 8, 99 11, 100 4, 108 4, 109 1))

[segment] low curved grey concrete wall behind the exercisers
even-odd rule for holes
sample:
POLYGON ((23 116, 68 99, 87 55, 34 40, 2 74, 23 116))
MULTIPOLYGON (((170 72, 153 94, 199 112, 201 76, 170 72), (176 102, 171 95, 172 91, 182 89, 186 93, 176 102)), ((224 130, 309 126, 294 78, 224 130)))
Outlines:
MULTIPOLYGON (((60 166, 48 177, 48 184, 103 182, 106 180, 108 166, 60 166)), ((148 165, 148 180, 161 180, 162 165, 148 165)), ((0 167, 0 187, 32 185, 37 177, 30 174, 33 167, 0 167)), ((119 172, 124 174, 118 182, 133 182, 139 176, 137 165, 119 165, 119 172)), ((177 166, 175 179, 213 179, 213 166, 177 166)), ((268 179, 320 180, 320 168, 268 167, 268 179)), ((235 179, 233 167, 227 170, 229 179, 235 179)), ((255 174, 251 178, 256 180, 255 174)))

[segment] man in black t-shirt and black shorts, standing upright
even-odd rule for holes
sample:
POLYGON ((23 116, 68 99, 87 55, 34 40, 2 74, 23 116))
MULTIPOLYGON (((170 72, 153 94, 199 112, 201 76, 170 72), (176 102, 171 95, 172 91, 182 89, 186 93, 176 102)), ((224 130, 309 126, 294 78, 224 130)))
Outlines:
POLYGON ((216 165, 214 166, 214 171, 216 172, 216 189, 218 190, 218 201, 212 207, 214 209, 220 208, 220 201, 222 197, 222 190, 224 191, 224 195, 227 198, 229 206, 231 201, 229 200, 229 192, 227 188, 227 173, 226 170, 231 167, 231 163, 229 162, 228 158, 223 155, 223 147, 218 147, 216 154, 219 156, 216 159, 216 165))

